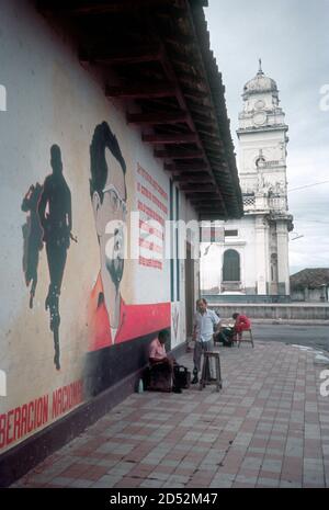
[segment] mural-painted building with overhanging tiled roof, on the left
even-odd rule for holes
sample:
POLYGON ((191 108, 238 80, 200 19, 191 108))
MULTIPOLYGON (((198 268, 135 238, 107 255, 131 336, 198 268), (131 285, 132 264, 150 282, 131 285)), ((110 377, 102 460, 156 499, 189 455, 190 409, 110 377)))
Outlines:
POLYGON ((0 486, 132 393, 159 330, 184 350, 204 196, 242 214, 206 34, 193 0, 0 2, 0 486))

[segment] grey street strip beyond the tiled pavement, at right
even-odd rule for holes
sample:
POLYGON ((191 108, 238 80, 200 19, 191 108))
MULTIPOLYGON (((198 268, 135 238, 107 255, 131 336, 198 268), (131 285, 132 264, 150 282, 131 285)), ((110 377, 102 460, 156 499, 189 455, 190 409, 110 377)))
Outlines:
POLYGON ((284 343, 325 349, 329 352, 328 326, 253 324, 254 340, 271 340, 284 343))

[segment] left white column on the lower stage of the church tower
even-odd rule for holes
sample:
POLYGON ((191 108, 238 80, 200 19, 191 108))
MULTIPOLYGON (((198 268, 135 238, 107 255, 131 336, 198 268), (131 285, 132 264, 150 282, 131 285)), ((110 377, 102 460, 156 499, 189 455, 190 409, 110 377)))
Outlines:
POLYGON ((269 282, 269 239, 264 216, 256 218, 256 274, 257 294, 268 294, 269 282))

